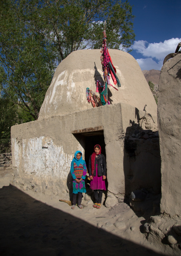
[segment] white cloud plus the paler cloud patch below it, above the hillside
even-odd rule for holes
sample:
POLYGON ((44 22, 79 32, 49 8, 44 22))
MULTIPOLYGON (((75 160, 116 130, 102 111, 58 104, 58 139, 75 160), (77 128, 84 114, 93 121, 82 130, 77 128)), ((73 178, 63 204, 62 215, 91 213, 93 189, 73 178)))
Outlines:
POLYGON ((160 43, 148 43, 147 41, 139 40, 134 41, 131 49, 135 50, 137 53, 141 53, 143 57, 148 57, 137 59, 141 70, 160 70, 164 58, 169 53, 175 52, 176 47, 180 42, 181 38, 172 38, 160 43), (157 62, 154 61, 153 58, 155 58, 157 62))

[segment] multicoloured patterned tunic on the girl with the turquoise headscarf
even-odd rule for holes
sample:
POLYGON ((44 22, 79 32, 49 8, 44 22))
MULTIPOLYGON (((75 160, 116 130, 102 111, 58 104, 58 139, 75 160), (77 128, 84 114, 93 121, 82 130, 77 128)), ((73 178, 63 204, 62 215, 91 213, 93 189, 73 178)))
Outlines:
POLYGON ((86 193, 86 186, 85 186, 85 179, 87 174, 86 162, 84 161, 83 165, 79 164, 79 166, 77 166, 77 164, 72 161, 71 174, 73 178, 73 181, 72 181, 73 193, 74 194, 78 194, 78 192, 86 193), (81 178, 82 178, 82 181, 80 183, 77 183, 75 181, 75 179, 81 179, 81 178))

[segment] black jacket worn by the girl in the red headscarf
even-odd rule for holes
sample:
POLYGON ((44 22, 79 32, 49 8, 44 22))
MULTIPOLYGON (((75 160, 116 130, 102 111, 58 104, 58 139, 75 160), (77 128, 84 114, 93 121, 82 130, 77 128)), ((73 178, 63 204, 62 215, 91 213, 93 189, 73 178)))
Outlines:
MULTIPOLYGON (((89 166, 88 166, 89 176, 92 176, 91 157, 92 155, 90 155, 89 157, 89 166)), ((95 172, 96 164, 98 169, 98 176, 102 176, 102 175, 106 176, 106 163, 105 163, 105 157, 103 154, 101 154, 101 157, 99 159, 95 157, 94 176, 96 175, 96 172, 95 172), (101 167, 101 164, 103 168, 101 167)))

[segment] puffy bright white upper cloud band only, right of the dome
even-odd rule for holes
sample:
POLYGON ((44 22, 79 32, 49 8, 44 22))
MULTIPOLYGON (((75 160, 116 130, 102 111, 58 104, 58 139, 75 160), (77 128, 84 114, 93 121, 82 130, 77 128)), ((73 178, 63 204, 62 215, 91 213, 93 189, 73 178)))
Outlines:
POLYGON ((169 53, 175 52, 181 38, 172 38, 160 43, 148 43, 147 41, 135 41, 131 48, 138 53, 143 54, 144 57, 152 57, 157 60, 163 60, 169 53))

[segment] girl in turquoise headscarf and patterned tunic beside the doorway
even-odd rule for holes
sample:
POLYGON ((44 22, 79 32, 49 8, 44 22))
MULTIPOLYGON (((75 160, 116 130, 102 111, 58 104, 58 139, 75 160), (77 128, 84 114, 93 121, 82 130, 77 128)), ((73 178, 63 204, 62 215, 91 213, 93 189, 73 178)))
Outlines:
POLYGON ((76 151, 74 158, 71 162, 71 174, 72 174, 72 185, 73 185, 73 200, 72 209, 76 206, 77 194, 78 194, 78 207, 83 208, 82 193, 86 193, 85 179, 87 174, 86 162, 82 159, 82 152, 76 151))

